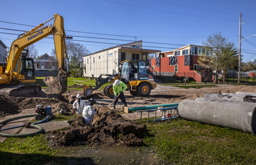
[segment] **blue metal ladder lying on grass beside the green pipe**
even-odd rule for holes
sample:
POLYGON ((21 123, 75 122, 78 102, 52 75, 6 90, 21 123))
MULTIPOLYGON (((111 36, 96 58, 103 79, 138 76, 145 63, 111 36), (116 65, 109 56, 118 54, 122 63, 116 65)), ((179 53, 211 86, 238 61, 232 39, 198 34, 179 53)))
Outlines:
MULTIPOLYGON (((138 110, 136 112, 140 112, 140 122, 141 122, 141 117, 142 117, 142 112, 148 112, 148 120, 147 122, 151 122, 151 121, 159 121, 159 120, 168 120, 168 119, 171 119, 171 118, 177 118, 177 117, 180 117, 178 115, 178 106, 175 106, 175 107, 167 107, 167 108, 157 108, 157 109, 147 109, 147 110, 138 110), (174 109, 174 112, 173 112, 173 116, 172 116, 172 109, 174 109), (156 111, 157 110, 162 110, 162 115, 161 115, 161 119, 156 119, 156 111), (165 117, 165 112, 168 110, 168 114, 170 114, 170 116, 168 117, 165 117), (170 110, 171 110, 171 113, 170 113, 170 110), (149 120, 149 112, 154 112, 155 111, 155 119, 154 120, 149 120), (176 113, 175 113, 176 112, 176 113), (164 118, 162 118, 163 116, 163 113, 164 113, 164 118)), ((146 121, 144 121, 146 122, 146 121)))

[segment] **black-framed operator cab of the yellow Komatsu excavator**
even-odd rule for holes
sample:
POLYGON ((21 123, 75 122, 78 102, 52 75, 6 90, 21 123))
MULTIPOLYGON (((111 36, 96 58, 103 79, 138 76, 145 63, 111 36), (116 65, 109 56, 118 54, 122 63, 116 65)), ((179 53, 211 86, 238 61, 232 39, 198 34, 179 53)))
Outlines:
MULTIPOLYGON (((27 58, 28 50, 24 49, 21 54, 21 65, 20 65, 20 79, 30 80, 35 79, 35 66, 33 58, 27 58)), ((20 59, 18 60, 14 72, 18 71, 18 64, 20 59)))

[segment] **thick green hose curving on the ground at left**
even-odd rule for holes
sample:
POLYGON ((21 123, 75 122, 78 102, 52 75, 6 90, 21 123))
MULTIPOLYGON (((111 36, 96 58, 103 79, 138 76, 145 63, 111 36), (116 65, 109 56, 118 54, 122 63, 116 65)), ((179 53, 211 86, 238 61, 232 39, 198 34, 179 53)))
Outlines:
MULTIPOLYGON (((25 118, 25 117, 32 117, 32 116, 36 116, 36 115, 37 114, 13 117, 13 118, 10 118, 10 119, 7 119, 7 120, 4 120, 4 121, 0 122, 0 124, 4 124, 4 123, 12 121, 12 120, 16 120, 16 119, 20 119, 20 118, 25 118)), ((39 131, 36 131, 36 132, 33 132, 33 133, 24 133, 24 134, 7 134, 7 133, 0 132, 0 136, 6 137, 6 138, 9 138, 9 137, 22 138, 22 137, 37 135, 37 134, 39 134, 39 133, 41 133, 43 131, 43 128, 38 126, 38 125, 31 124, 31 127, 39 129, 39 131)))

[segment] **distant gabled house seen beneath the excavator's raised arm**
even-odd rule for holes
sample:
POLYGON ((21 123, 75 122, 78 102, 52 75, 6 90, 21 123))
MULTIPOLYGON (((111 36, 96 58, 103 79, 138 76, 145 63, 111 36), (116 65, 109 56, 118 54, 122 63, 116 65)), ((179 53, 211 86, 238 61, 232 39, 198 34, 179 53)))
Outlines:
POLYGON ((54 60, 53 56, 49 56, 47 53, 36 59, 35 63, 36 71, 58 71, 57 60, 54 60))

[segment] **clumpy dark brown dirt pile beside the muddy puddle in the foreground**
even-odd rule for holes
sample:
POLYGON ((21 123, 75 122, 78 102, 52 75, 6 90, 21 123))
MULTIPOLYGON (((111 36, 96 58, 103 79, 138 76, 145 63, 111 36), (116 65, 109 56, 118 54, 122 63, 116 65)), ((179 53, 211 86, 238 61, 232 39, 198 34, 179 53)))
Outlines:
POLYGON ((48 134, 47 139, 51 141, 51 146, 111 145, 116 141, 128 146, 141 146, 141 133, 147 129, 145 124, 126 120, 105 106, 96 110, 92 125, 85 124, 82 116, 68 122, 70 126, 65 130, 48 134))

